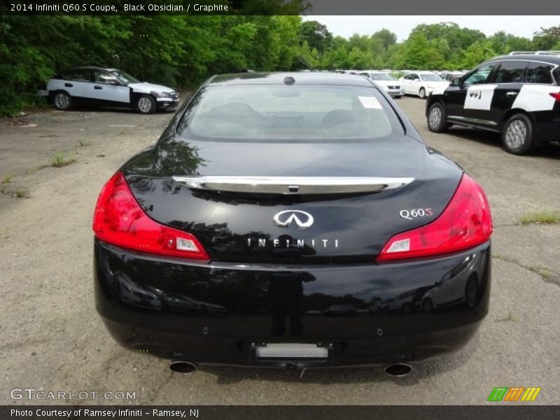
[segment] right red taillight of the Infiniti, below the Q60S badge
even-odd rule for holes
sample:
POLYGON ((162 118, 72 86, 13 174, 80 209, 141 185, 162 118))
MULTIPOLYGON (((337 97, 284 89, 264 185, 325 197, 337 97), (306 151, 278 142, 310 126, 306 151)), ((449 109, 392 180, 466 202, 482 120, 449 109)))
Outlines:
POLYGON ((461 183, 443 213, 420 228, 399 233, 389 239, 378 261, 421 258, 452 253, 483 244, 492 233, 488 200, 469 176, 461 183))

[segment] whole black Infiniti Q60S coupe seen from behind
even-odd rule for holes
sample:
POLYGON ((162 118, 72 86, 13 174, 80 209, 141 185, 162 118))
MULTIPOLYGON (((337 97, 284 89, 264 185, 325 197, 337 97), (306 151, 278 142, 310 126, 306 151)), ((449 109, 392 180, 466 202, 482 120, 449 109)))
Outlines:
POLYGON ((484 191, 363 76, 210 78, 109 179, 93 230, 106 328, 176 372, 405 372, 489 308, 484 191))

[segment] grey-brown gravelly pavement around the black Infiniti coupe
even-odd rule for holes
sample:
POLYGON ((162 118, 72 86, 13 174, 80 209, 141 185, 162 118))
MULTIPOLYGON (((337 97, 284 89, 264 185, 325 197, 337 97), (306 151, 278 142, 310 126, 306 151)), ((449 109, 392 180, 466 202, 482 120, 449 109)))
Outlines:
POLYGON ((57 403, 13 400, 18 387, 136 392, 136 400, 73 401, 96 404, 485 404, 494 386, 540 386, 533 404, 558 404, 560 226, 519 221, 560 208, 560 147, 508 155, 495 134, 428 132, 420 99, 398 104, 428 145, 482 183, 493 210, 491 309, 462 351, 402 379, 379 367, 308 370, 300 379, 229 367, 181 376, 165 360, 121 349, 94 310, 92 211, 104 182, 153 144, 171 114, 41 111, 0 121, 0 177, 10 176, 0 184, 0 404, 57 403), (55 155, 73 162, 50 167, 55 155))

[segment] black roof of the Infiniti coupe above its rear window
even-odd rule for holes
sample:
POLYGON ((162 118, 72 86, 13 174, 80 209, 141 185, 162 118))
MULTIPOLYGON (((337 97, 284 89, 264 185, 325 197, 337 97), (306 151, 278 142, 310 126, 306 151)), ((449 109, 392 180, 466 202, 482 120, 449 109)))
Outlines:
POLYGON ((208 85, 283 85, 286 77, 293 78, 296 85, 351 85, 372 87, 370 80, 358 74, 300 73, 297 71, 218 74, 209 80, 208 85))

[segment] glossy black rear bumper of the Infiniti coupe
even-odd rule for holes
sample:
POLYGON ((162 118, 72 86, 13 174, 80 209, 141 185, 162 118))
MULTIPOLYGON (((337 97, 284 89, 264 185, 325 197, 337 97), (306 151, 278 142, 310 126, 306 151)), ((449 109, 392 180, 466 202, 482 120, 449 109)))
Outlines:
POLYGON ((94 246, 96 306, 113 337, 134 351, 202 364, 317 367, 440 356, 477 330, 490 281, 489 243, 437 260, 336 267, 200 264, 94 246), (472 281, 475 299, 467 301, 472 281), (255 356, 263 343, 284 342, 323 346, 328 358, 255 356))

